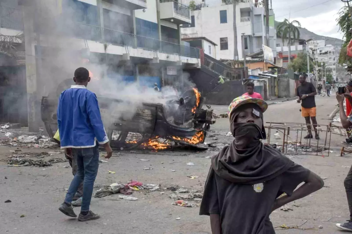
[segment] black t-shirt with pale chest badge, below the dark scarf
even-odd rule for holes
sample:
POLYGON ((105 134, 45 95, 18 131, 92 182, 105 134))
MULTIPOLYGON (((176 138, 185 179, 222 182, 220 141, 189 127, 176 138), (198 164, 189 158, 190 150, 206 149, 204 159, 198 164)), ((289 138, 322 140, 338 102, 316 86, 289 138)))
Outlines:
POLYGON ((275 234, 269 215, 281 194, 291 196, 310 171, 294 164, 285 173, 261 184, 236 184, 215 174, 206 183, 200 215, 220 214, 222 234, 275 234))

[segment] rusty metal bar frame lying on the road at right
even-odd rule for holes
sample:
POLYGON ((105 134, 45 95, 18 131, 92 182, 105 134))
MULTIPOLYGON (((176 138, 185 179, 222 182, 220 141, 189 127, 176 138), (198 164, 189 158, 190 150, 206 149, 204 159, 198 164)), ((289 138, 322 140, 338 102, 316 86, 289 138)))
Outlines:
MULTIPOLYGON (((333 125, 332 123, 328 124, 328 125, 322 125, 322 124, 318 124, 317 128, 318 128, 318 134, 320 132, 325 132, 325 141, 324 144, 322 144, 321 150, 319 150, 319 141, 317 140, 316 144, 313 144, 310 139, 306 139, 306 144, 302 143, 302 134, 303 132, 308 131, 307 125, 305 123, 290 123, 290 122, 279 122, 279 123, 275 123, 275 122, 266 122, 266 124, 269 124, 269 126, 265 126, 266 129, 268 129, 268 136, 267 136, 267 144, 270 145, 270 136, 271 136, 271 130, 278 130, 280 132, 282 132, 284 134, 283 136, 283 142, 282 145, 282 152, 283 153, 287 153, 287 148, 288 145, 295 145, 295 154, 300 154, 299 151, 297 151, 298 149, 298 145, 300 145, 299 147, 306 147, 305 150, 305 154, 306 155, 313 155, 313 152, 309 152, 308 153, 308 147, 312 147, 316 149, 316 153, 315 155, 318 155, 318 152, 321 152, 321 156, 329 156, 330 154, 330 143, 331 143, 331 134, 336 134, 336 135, 347 135, 346 134, 346 130, 333 125), (338 133, 335 133, 334 130, 338 130, 338 133), (290 132, 296 132, 296 141, 295 142, 289 142, 289 135, 290 132), (299 134, 300 133, 300 134, 299 134), (298 136, 300 136, 300 139, 298 141, 298 136), (323 151, 327 150, 327 155, 323 154, 323 151)), ((312 129, 312 131, 314 131, 313 125, 310 124, 310 128, 312 129)), ((347 151, 348 152, 348 151, 347 151)), ((352 151, 351 151, 352 152, 352 151)), ((341 156, 342 156, 342 149, 341 149, 341 156)))

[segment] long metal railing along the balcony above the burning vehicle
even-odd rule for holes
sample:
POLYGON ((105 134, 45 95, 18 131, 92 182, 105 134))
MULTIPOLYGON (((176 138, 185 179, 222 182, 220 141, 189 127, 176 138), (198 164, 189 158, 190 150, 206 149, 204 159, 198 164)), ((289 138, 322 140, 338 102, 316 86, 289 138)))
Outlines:
POLYGON ((131 33, 120 32, 99 26, 76 23, 73 30, 75 37, 109 43, 132 48, 143 48, 144 50, 159 51, 161 53, 179 54, 180 56, 199 58, 199 49, 189 46, 178 45, 167 41, 142 37, 131 33), (102 39, 103 37, 103 39, 102 39))

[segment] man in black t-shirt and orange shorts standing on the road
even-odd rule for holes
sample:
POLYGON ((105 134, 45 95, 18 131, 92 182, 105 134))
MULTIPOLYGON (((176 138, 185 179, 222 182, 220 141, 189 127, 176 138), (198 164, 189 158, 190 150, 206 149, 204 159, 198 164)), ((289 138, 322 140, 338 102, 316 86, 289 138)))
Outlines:
POLYGON ((318 131, 316 130, 316 126, 318 123, 316 122, 316 105, 315 105, 315 95, 316 90, 312 83, 306 82, 306 77, 300 75, 299 79, 301 85, 297 87, 297 102, 301 104, 302 117, 306 119, 308 135, 304 137, 304 139, 313 138, 312 129, 310 125, 310 119, 312 119, 313 128, 315 131, 315 139, 319 139, 318 131))

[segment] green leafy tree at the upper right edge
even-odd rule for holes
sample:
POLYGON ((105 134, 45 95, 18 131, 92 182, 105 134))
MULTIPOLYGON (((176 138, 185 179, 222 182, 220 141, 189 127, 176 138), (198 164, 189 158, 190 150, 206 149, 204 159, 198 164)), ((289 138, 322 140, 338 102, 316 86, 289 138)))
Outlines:
POLYGON ((351 14, 347 6, 344 6, 338 12, 338 18, 336 19, 337 25, 339 26, 339 31, 342 32, 342 39, 344 44, 342 44, 340 55, 339 55, 339 64, 348 64, 351 65, 351 58, 347 57, 347 45, 352 39, 352 21, 351 14))

